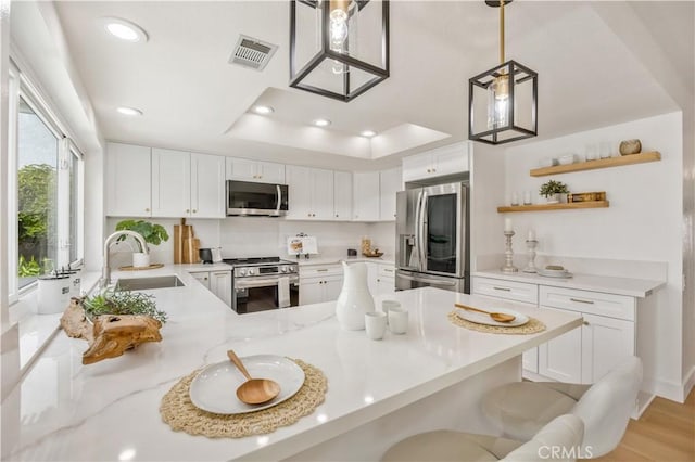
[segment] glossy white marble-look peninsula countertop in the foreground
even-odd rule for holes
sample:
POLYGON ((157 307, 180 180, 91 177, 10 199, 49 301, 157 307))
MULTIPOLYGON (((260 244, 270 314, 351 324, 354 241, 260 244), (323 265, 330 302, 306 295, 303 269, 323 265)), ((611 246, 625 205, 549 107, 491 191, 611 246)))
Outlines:
POLYGON ((187 285, 151 291, 169 315, 162 342, 83 365, 86 343, 58 334, 3 402, 3 460, 282 459, 581 325, 577 313, 534 310, 547 325, 542 333, 468 331, 451 324, 446 313, 455 301, 484 306, 484 299, 426 287, 389 296, 408 309, 408 333, 387 332, 374 342, 364 331, 342 331, 334 303, 240 316, 182 267, 148 271, 172 272, 187 285), (225 360, 229 348, 318 367, 328 378, 325 402, 263 437, 208 439, 173 432, 159 413, 162 396, 191 371, 225 360))

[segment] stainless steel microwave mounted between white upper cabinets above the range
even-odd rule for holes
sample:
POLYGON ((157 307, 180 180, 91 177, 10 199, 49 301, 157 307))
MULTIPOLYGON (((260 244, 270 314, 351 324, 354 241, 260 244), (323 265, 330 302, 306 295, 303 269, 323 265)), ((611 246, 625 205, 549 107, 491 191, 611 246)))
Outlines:
POLYGON ((227 180, 228 217, 281 217, 287 206, 287 184, 227 180))

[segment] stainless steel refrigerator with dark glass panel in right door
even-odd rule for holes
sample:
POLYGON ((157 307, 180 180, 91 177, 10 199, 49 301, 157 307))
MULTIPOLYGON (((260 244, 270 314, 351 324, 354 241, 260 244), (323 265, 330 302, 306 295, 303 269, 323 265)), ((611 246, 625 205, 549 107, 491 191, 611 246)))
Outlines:
POLYGON ((465 182, 396 193, 396 290, 470 292, 468 208, 465 182))

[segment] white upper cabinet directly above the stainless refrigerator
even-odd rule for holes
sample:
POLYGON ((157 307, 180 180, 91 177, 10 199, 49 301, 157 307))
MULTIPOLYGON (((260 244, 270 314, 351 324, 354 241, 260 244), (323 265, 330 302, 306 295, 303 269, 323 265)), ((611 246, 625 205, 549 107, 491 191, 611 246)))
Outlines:
POLYGON ((469 170, 469 143, 456 143, 403 159, 403 181, 417 181, 469 170))

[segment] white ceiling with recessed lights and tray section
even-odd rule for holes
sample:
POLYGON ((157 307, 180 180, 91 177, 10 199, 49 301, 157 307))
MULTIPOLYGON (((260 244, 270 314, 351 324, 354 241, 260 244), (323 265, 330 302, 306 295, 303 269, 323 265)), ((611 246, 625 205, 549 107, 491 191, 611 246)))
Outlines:
MULTIPOLYGON (((669 44, 679 29, 692 35, 692 7, 623 7, 686 81, 690 70, 690 88, 693 43, 669 44)), ((465 140, 468 78, 497 62, 496 9, 392 1, 391 77, 342 103, 288 87, 289 1, 60 1, 55 9, 105 139, 241 157, 367 169, 465 140), (149 41, 108 36, 103 16, 138 24, 149 41), (263 72, 228 64, 239 34, 279 46, 263 72), (256 101, 275 113, 249 114, 256 101), (144 114, 124 117, 115 112, 124 105, 144 114), (317 117, 333 124, 311 127, 317 117), (381 139, 358 137, 366 128, 381 139)), ((517 0, 507 8, 506 51, 539 73, 541 138, 678 108, 591 2, 517 0)))

